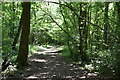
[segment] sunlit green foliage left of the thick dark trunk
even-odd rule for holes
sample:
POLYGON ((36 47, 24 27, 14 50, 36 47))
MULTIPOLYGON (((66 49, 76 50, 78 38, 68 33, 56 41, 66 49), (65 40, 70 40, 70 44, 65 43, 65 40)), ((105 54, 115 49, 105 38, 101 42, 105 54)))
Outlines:
POLYGON ((18 53, 18 45, 13 51, 12 44, 19 26, 21 9, 20 2, 4 2, 2 4, 2 59, 8 59, 12 64, 15 63, 18 53))

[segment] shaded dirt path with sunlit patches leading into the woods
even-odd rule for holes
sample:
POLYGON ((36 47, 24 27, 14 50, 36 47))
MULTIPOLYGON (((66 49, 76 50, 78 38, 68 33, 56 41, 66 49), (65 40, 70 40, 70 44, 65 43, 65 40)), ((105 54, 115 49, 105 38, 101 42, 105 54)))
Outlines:
POLYGON ((95 74, 87 75, 82 67, 73 60, 60 56, 55 46, 43 48, 28 58, 29 66, 25 67, 18 76, 11 76, 6 80, 112 80, 95 79, 95 74), (86 77, 93 78, 86 78, 86 77))

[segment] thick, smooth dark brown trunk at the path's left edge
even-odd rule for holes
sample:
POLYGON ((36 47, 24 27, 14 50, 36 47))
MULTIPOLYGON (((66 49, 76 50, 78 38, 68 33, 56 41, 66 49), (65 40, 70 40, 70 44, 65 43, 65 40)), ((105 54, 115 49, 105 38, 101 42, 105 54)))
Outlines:
POLYGON ((23 2, 23 16, 22 16, 22 33, 19 47, 19 54, 17 57, 18 67, 26 66, 28 64, 28 44, 30 34, 30 2, 23 2))

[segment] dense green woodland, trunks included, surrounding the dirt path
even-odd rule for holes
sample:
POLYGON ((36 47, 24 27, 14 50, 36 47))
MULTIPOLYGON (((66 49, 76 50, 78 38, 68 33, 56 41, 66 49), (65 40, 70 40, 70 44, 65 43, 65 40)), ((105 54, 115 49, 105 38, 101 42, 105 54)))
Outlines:
POLYGON ((120 2, 1 5, 3 75, 11 74, 10 65, 29 66, 38 47, 58 46, 59 56, 85 71, 120 80, 120 2))

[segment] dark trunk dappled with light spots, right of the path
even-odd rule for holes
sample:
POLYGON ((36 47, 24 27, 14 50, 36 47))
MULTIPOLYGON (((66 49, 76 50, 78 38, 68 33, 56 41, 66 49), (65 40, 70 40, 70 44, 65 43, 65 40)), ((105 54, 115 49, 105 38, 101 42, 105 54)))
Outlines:
MULTIPOLYGON (((80 3, 80 16, 82 18, 86 18, 86 11, 82 9, 82 7, 85 6, 84 4, 80 3)), ((86 20, 81 19, 79 17, 78 19, 78 26, 79 26, 79 50, 78 53, 80 54, 81 60, 86 61, 87 55, 87 35, 88 35, 88 29, 86 27, 86 20)))

